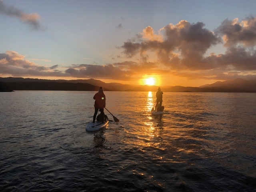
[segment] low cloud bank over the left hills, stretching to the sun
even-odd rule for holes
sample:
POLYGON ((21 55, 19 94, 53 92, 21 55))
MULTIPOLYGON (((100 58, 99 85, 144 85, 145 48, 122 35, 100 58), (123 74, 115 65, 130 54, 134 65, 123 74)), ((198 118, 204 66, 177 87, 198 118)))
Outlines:
MULTIPOLYGON (((95 63, 95 62, 94 62, 95 63)), ((159 70, 158 64, 147 62, 142 58, 140 62, 119 62, 114 64, 73 64, 66 70, 59 70, 58 65, 51 67, 40 66, 25 59, 24 55, 14 51, 0 53, 0 74, 10 76, 52 76, 74 78, 100 78, 113 80, 138 80, 142 73, 166 74, 168 70, 159 70)))

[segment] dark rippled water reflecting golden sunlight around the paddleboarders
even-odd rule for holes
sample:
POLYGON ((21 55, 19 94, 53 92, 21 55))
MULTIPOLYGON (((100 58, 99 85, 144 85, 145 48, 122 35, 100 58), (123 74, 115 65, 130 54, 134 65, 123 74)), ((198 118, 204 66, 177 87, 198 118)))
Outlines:
POLYGON ((95 93, 0 93, 1 192, 256 191, 255 93, 105 92, 86 132, 95 93))

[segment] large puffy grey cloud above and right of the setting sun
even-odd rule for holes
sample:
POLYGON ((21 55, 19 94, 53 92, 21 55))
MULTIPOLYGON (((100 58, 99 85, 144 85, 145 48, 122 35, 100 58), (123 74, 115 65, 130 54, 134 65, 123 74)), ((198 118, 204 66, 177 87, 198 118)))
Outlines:
POLYGON ((213 32, 203 27, 202 22, 190 24, 182 20, 176 25, 169 24, 160 29, 163 32, 161 37, 154 34, 148 26, 142 35, 137 36, 140 42, 127 41, 121 48, 128 58, 138 52, 143 55, 148 51, 154 51, 158 59, 171 68, 180 68, 180 64, 189 67, 191 59, 200 60, 208 48, 220 42, 213 32), (177 52, 179 54, 176 54, 177 52))

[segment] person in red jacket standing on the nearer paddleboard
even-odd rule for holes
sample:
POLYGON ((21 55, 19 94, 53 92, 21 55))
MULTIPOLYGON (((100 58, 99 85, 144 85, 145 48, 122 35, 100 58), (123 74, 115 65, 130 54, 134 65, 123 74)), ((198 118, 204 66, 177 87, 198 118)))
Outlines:
POLYGON ((102 87, 100 87, 99 92, 94 95, 93 99, 95 99, 95 102, 94 102, 95 112, 93 116, 93 123, 95 123, 98 110, 100 110, 102 123, 104 123, 104 107, 106 107, 106 96, 103 93, 102 87))

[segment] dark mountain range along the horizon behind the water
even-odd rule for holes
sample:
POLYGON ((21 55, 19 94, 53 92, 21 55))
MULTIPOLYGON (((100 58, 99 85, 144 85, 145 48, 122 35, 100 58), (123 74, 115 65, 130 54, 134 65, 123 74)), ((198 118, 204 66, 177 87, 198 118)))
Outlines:
MULTIPOLYGON (((104 91, 154 91, 158 86, 105 83, 95 79, 46 80, 21 77, 0 77, 0 91, 11 90, 81 90, 97 91, 100 86, 104 91)), ((237 78, 200 87, 161 86, 163 92, 256 92, 256 80, 237 78)))

